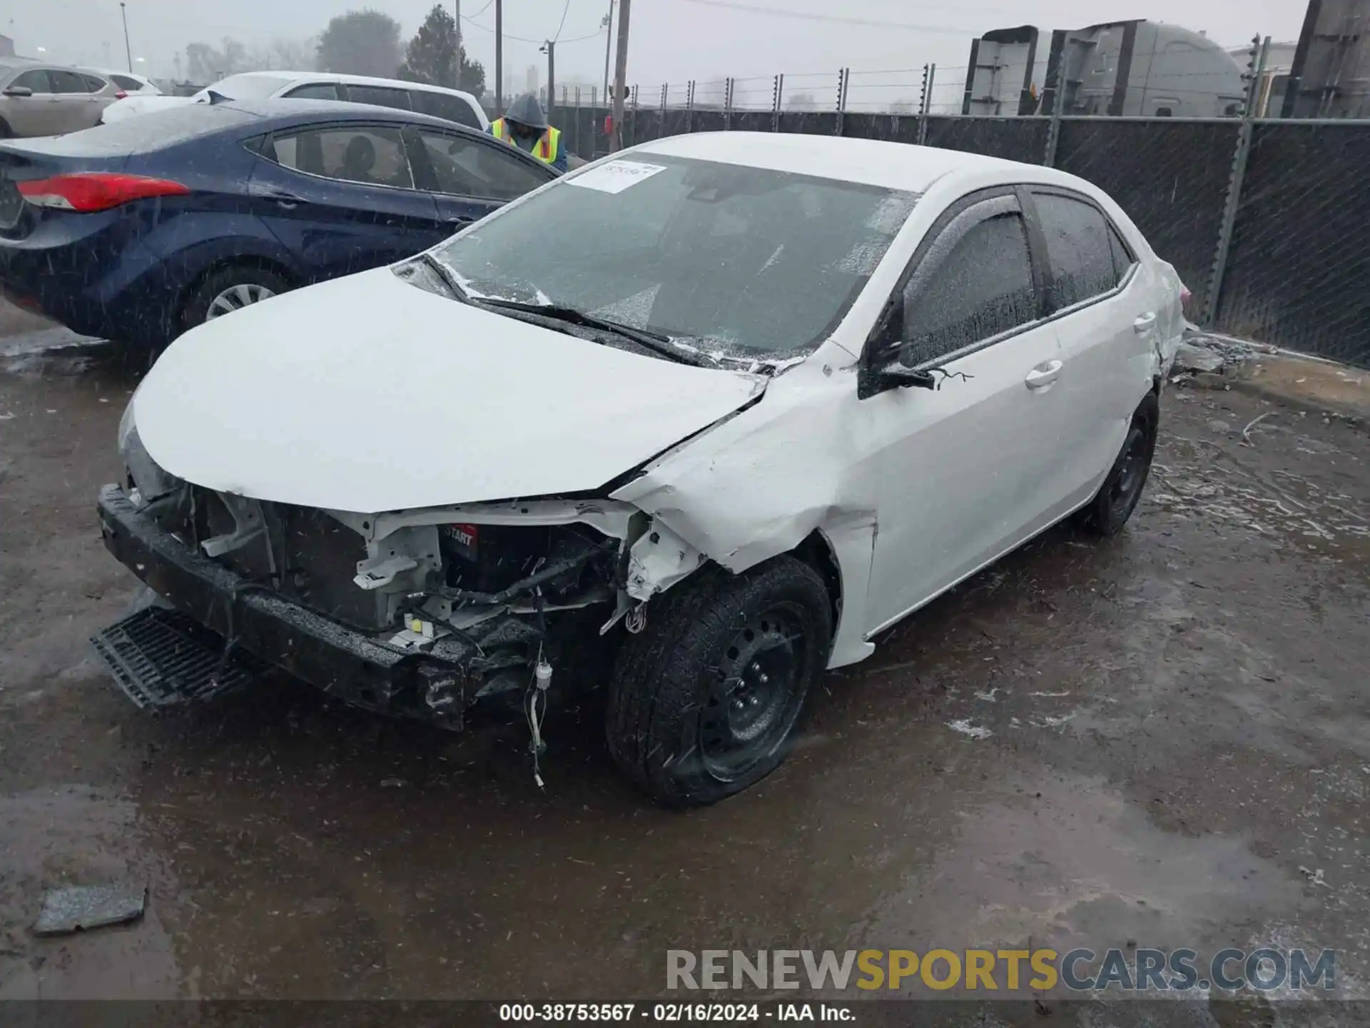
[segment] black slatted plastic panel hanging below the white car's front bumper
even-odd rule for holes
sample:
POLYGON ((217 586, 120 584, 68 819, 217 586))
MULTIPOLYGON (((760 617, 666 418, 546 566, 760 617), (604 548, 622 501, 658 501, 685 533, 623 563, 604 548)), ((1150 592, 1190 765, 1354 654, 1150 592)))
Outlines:
POLYGON ((140 707, 211 699, 255 681, 269 665, 177 610, 148 607, 90 637, 115 683, 140 707))

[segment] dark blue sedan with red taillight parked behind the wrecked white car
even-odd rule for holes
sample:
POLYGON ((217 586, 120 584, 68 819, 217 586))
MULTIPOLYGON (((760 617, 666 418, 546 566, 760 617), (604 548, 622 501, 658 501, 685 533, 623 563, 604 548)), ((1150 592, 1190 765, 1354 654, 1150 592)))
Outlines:
POLYGON ((0 144, 0 289, 86 336, 200 322, 440 243, 551 181, 440 118, 327 101, 195 104, 0 144))

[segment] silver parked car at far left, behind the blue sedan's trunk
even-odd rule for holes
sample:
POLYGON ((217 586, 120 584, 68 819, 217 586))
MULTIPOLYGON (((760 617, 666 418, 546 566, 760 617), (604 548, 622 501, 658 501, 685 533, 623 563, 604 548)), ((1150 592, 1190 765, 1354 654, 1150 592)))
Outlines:
POLYGON ((123 96, 105 75, 33 60, 0 60, 0 137, 92 129, 123 96))

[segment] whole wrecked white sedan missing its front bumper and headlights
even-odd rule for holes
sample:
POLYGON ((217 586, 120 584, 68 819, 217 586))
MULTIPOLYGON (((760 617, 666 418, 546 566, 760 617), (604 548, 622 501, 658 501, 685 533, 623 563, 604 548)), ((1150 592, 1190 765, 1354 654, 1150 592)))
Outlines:
POLYGON ((399 266, 193 329, 134 395, 101 632, 136 700, 277 665, 458 728, 607 684, 658 800, 1049 525, 1128 519, 1182 285, 1099 189, 812 136, 659 140, 399 266))

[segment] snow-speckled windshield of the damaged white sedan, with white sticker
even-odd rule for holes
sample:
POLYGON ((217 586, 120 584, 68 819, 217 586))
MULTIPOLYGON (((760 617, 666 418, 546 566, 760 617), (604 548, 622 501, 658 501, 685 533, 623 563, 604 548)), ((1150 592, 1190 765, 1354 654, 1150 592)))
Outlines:
POLYGON ((475 297, 551 303, 718 359, 803 356, 917 196, 641 154, 501 211, 433 256, 475 297))

